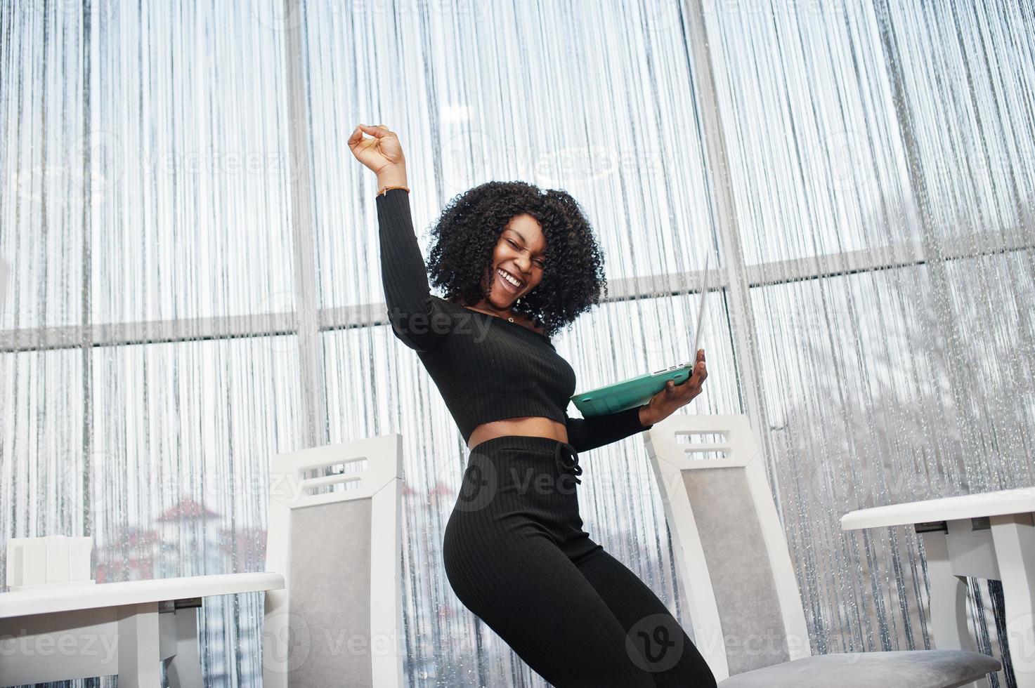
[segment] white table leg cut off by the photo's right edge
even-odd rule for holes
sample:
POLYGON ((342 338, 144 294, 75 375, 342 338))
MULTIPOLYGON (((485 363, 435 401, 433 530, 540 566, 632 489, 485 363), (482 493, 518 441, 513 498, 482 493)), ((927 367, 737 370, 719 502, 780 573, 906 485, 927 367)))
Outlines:
POLYGON ((1013 676, 1017 688, 1035 688, 1035 524, 1030 513, 992 516, 989 522, 1013 676))

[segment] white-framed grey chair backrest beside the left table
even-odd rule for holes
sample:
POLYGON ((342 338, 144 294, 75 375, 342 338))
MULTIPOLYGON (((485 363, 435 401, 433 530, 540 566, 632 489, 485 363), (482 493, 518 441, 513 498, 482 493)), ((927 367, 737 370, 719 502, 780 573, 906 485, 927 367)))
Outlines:
POLYGON ((285 587, 266 593, 266 688, 403 685, 402 496, 397 433, 272 458, 266 570, 285 587))

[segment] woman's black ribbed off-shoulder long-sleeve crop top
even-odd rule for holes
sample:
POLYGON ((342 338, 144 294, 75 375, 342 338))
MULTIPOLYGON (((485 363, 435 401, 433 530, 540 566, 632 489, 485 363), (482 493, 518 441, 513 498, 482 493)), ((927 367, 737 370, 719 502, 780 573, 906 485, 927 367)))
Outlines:
POLYGON ((433 295, 409 196, 393 188, 376 200, 388 320, 392 333, 417 352, 465 441, 480 423, 519 416, 564 423, 575 451, 653 427, 640 422, 639 408, 569 418, 575 373, 548 336, 433 295))

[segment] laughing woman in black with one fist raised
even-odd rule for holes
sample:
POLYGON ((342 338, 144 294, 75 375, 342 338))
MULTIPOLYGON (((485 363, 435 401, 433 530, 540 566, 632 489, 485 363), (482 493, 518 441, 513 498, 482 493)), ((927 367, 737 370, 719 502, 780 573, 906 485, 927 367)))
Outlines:
POLYGON ((578 452, 648 429, 701 393, 704 350, 687 383, 670 381, 649 403, 568 418, 575 376, 550 337, 607 289, 575 201, 522 182, 453 199, 428 260, 440 298, 413 231, 398 138, 360 124, 349 147, 378 178, 392 331, 417 352, 470 450, 443 542, 457 598, 558 688, 714 686, 664 604, 583 530, 574 488, 578 452))

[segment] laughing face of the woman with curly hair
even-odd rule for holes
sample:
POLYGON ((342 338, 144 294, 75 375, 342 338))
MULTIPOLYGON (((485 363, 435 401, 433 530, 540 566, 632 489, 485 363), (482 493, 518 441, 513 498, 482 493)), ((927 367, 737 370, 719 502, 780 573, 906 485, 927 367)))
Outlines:
POLYGON ((493 249, 493 281, 486 300, 500 310, 509 308, 542 281, 545 263, 546 237, 542 227, 532 215, 514 215, 493 249), (516 278, 521 285, 514 286, 501 271, 516 278))

